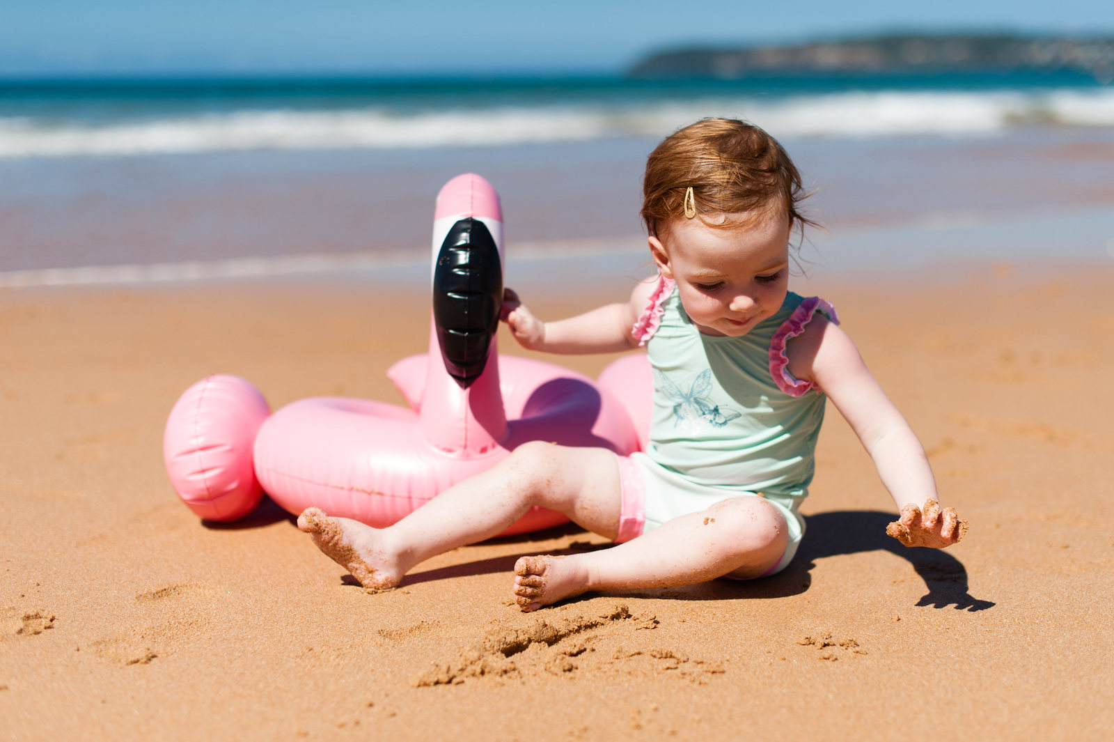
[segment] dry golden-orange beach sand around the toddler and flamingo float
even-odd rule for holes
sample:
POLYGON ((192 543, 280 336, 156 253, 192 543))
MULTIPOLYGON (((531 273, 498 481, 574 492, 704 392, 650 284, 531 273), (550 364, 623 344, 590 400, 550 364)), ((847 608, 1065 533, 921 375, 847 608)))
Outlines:
POLYGON ((831 410, 783 574, 532 614, 516 558, 602 538, 496 539, 369 594, 270 501, 203 524, 163 471, 166 416, 207 373, 275 407, 400 401, 383 372, 424 350, 420 295, 0 292, 0 739, 1108 739, 1112 280, 998 264, 818 287, 969 521, 956 547, 886 536, 891 501, 831 410))

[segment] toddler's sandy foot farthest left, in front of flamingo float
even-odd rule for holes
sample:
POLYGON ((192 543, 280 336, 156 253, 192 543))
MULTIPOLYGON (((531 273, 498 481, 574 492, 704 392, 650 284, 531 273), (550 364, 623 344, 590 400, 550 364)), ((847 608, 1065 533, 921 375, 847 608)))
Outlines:
POLYGON ((382 590, 402 582, 404 573, 390 558, 378 538, 379 531, 371 526, 351 518, 331 518, 321 508, 306 508, 297 518, 297 527, 364 587, 382 590))

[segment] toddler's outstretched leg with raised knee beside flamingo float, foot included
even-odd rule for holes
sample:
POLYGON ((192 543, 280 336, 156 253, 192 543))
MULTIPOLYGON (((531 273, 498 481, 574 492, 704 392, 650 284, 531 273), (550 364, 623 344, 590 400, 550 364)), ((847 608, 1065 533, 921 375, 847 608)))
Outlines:
POLYGON ((498 536, 535 505, 615 538, 619 504, 614 453, 534 441, 388 528, 331 518, 320 508, 306 509, 297 527, 361 585, 387 588, 431 556, 498 536))

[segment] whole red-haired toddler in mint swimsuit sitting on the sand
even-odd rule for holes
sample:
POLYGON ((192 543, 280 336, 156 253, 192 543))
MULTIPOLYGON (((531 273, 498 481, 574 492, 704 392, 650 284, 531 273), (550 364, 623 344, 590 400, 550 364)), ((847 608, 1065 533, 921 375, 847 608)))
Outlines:
POLYGON ((522 557, 515 594, 534 611, 587 590, 753 578, 783 569, 804 534, 830 398, 874 460, 906 546, 957 543, 925 450, 839 326, 832 305, 788 290, 790 238, 812 224, 792 160, 744 121, 705 119, 651 154, 642 217, 655 280, 629 301, 541 322, 507 290, 522 346, 597 353, 645 345, 654 413, 645 453, 530 442, 489 471, 377 529, 306 509, 299 528, 370 588, 497 536, 531 507, 615 540, 568 557, 522 557))

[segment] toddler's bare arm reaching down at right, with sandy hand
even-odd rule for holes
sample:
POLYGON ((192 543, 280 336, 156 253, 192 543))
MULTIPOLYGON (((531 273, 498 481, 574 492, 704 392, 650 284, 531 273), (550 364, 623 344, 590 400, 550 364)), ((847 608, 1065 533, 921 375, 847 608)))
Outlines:
POLYGON ((886 533, 906 546, 936 548, 962 538, 967 524, 952 508, 940 509, 925 448, 847 333, 818 314, 801 335, 789 341, 786 355, 790 373, 828 394, 874 460, 878 476, 901 511, 886 533))

